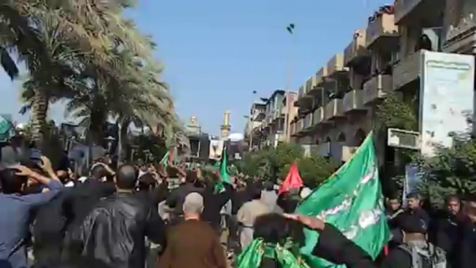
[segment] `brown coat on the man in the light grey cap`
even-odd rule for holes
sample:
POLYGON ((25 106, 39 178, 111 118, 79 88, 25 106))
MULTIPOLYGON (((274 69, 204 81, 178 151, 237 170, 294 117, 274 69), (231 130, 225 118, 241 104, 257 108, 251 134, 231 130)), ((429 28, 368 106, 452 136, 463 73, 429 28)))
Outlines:
POLYGON ((209 224, 196 220, 171 228, 159 268, 226 268, 218 234, 209 224))

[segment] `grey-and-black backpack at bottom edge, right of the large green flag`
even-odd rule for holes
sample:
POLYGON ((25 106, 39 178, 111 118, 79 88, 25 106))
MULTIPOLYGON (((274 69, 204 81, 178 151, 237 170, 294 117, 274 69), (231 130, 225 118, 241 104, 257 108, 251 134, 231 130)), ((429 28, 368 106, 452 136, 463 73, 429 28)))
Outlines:
POLYGON ((419 244, 400 244, 399 249, 411 256, 411 268, 446 268, 446 253, 443 249, 425 242, 425 246, 419 244))

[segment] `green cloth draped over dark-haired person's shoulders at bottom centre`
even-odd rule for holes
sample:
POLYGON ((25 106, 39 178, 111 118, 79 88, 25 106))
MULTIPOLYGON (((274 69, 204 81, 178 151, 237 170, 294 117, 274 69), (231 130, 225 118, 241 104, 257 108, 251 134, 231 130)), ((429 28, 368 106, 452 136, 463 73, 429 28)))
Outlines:
POLYGON ((277 260, 282 268, 310 268, 304 260, 296 258, 291 251, 279 244, 264 243, 255 239, 237 257, 237 268, 260 268, 263 257, 277 260), (274 252, 273 252, 274 251, 274 252))

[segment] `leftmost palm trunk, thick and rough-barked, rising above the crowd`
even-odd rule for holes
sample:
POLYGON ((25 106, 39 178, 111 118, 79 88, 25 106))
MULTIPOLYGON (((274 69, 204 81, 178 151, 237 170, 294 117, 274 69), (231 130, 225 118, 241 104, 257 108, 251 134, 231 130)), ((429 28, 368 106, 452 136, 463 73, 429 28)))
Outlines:
POLYGON ((48 97, 42 90, 34 90, 35 96, 31 106, 31 130, 32 140, 35 142, 37 149, 43 149, 44 140, 46 137, 47 122, 46 116, 48 114, 48 97))

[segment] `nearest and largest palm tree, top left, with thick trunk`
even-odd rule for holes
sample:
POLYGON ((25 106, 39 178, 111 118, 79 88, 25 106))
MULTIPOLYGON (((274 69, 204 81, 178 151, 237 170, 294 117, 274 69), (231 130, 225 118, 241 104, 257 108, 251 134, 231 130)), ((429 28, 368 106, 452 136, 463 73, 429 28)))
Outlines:
MULTIPOLYGON (((121 16, 121 10, 129 6, 120 0, 0 3, 0 63, 15 78, 18 68, 8 51, 17 51, 26 62, 30 79, 24 84, 23 97, 25 108, 33 109, 35 140, 42 140, 49 102, 76 94, 82 99, 91 92, 100 97, 108 92, 101 89, 121 83, 128 64, 121 51, 151 60, 153 43, 121 16)), ((95 114, 101 113, 99 106, 93 109, 95 114)))

